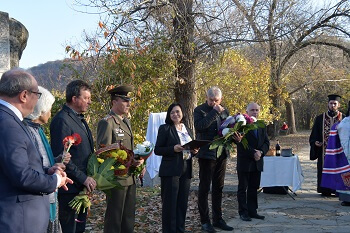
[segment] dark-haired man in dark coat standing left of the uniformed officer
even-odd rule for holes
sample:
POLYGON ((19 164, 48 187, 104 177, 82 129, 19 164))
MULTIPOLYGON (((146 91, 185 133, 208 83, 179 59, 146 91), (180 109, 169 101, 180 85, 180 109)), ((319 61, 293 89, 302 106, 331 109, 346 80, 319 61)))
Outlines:
POLYGON ((52 119, 50 125, 51 148, 55 157, 63 150, 63 139, 73 133, 78 133, 81 143, 72 146, 69 150, 72 155, 66 166, 66 172, 74 181, 69 185, 68 191, 59 190, 59 219, 63 233, 84 232, 86 223, 86 212, 75 216, 75 211, 68 203, 83 190, 84 186, 88 192, 96 188, 96 181, 87 176, 87 163, 89 155, 94 152, 94 143, 91 131, 84 119, 83 113, 91 104, 90 86, 82 81, 70 82, 66 88, 66 104, 52 119), (78 221, 75 221, 75 218, 78 221))

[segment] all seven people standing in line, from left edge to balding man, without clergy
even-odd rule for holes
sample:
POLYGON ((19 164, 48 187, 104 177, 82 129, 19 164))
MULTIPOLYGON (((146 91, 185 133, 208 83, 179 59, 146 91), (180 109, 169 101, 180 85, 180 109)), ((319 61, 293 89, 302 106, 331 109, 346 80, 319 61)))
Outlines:
MULTIPOLYGON (((121 143, 133 150, 134 137, 127 118, 132 86, 118 86, 108 91, 111 109, 98 122, 97 148, 121 143)), ((206 102, 194 110, 196 139, 212 140, 229 112, 221 105, 218 87, 207 91, 206 102)), ((50 124, 50 141, 43 124, 51 117, 55 99, 38 86, 27 71, 15 68, 5 72, 0 80, 0 229, 3 232, 84 232, 87 213, 78 214, 69 206, 85 188, 96 189, 96 181, 87 175, 89 156, 94 152, 94 140, 84 113, 91 104, 91 87, 82 80, 66 87, 66 102, 50 124), (81 143, 66 151, 63 139, 77 133, 81 143)), ((247 114, 258 117, 260 106, 250 103, 247 114)), ((162 156, 161 177, 163 232, 184 232, 192 160, 199 161, 198 208, 202 230, 215 232, 214 227, 232 231, 222 216, 222 191, 228 151, 218 157, 209 145, 188 150, 182 145, 195 137, 184 125, 180 104, 171 104, 165 124, 160 126, 155 153, 162 156), (212 221, 209 217, 208 195, 212 189, 212 221)), ((263 167, 263 156, 269 148, 265 128, 249 132, 249 147, 241 145, 242 135, 235 135, 238 147, 239 214, 244 221, 263 219, 257 213, 257 189, 263 167)), ((140 166, 142 159, 133 160, 140 166)), ((104 232, 133 232, 136 205, 136 177, 118 177, 122 188, 115 188, 107 197, 104 232)))

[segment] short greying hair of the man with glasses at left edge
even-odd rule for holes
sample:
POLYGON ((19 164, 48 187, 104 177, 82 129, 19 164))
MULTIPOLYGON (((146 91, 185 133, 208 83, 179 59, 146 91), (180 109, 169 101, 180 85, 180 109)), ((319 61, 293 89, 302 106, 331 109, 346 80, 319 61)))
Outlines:
POLYGON ((33 88, 32 75, 21 68, 14 68, 2 74, 0 95, 15 97, 24 90, 33 88))

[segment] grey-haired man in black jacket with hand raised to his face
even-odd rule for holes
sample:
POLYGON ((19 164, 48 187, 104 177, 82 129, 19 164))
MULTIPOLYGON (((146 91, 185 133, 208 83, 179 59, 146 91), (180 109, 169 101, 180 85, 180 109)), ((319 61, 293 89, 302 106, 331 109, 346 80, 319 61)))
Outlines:
MULTIPOLYGON (((218 87, 211 87, 207 91, 207 101, 194 109, 194 127, 196 138, 199 140, 213 140, 218 135, 221 122, 229 116, 229 112, 221 105, 222 93, 218 87)), ((232 231, 222 219, 222 189, 226 172, 228 151, 217 155, 217 149, 209 150, 209 145, 201 147, 198 157, 199 190, 198 209, 202 230, 216 232, 214 227, 232 231), (209 218, 208 194, 212 185, 212 216, 213 225, 209 218)))

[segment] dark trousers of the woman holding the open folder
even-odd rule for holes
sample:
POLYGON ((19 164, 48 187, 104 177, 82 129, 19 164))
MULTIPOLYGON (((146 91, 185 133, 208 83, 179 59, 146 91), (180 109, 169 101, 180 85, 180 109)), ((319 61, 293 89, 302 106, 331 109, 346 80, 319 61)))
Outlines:
POLYGON ((163 233, 185 232, 188 195, 191 184, 191 163, 184 161, 181 176, 161 177, 163 233))

